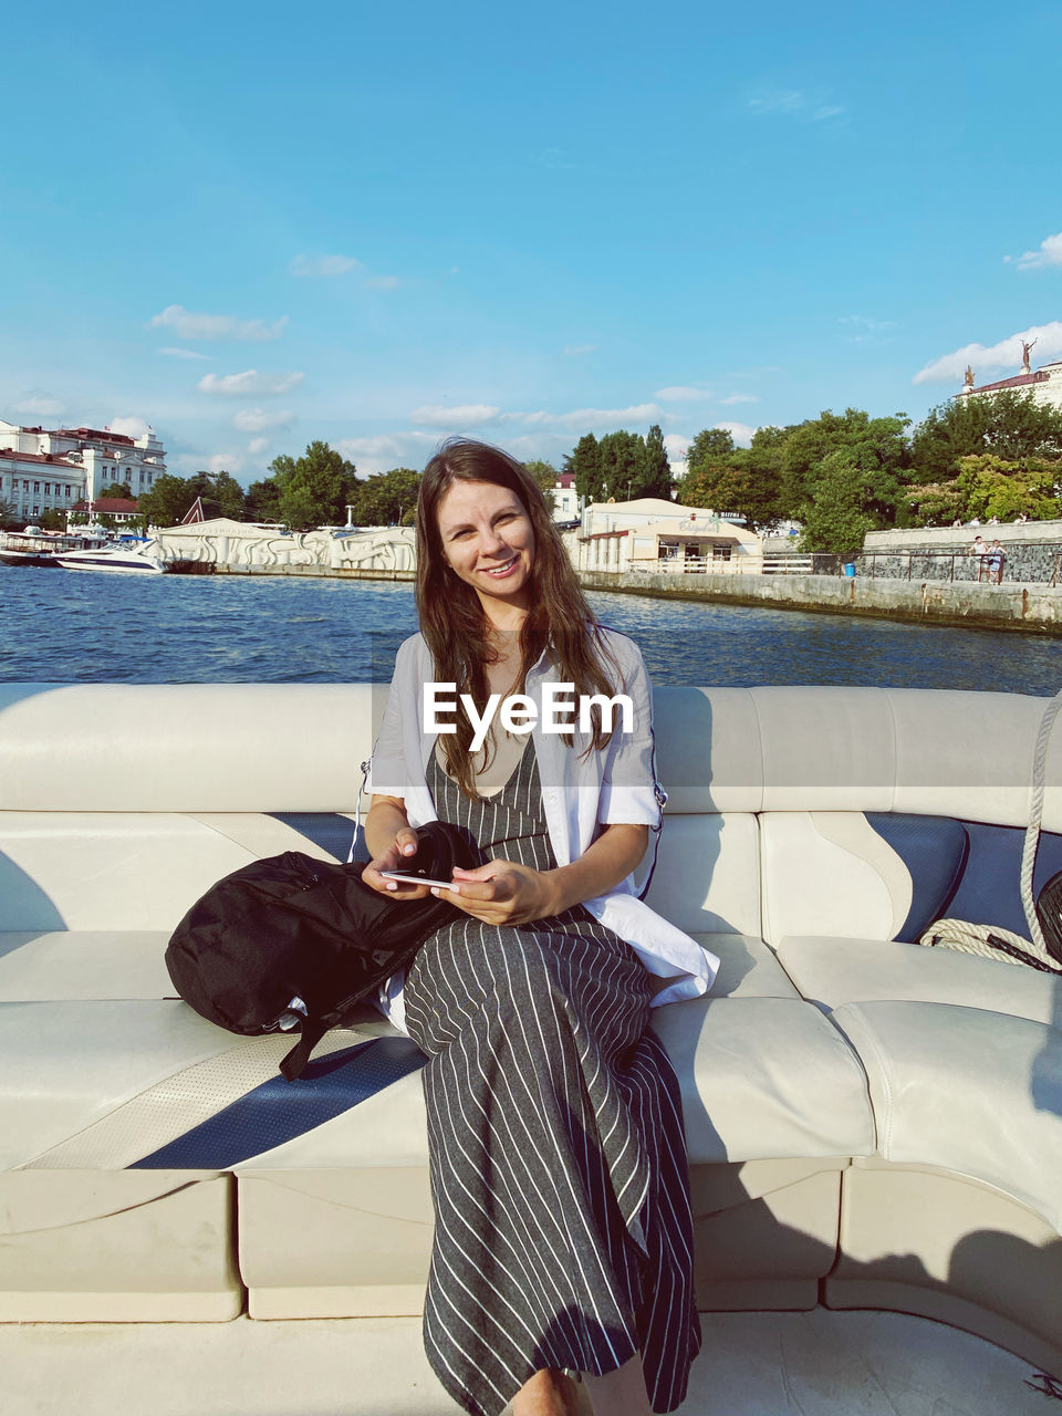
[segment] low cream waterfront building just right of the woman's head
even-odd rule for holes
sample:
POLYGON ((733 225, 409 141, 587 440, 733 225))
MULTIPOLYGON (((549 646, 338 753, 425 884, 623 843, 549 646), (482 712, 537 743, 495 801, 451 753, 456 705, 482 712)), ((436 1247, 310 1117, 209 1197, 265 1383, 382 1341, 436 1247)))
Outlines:
POLYGON ((742 517, 681 507, 660 497, 595 501, 583 508, 576 538, 581 571, 759 571, 760 538, 742 517))

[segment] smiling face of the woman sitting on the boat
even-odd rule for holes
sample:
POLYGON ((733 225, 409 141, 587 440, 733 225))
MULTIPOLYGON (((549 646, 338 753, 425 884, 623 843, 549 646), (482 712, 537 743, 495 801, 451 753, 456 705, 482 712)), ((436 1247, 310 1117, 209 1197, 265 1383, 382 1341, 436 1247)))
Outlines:
POLYGON ((455 481, 439 501, 439 538, 484 610, 530 609, 535 532, 520 497, 491 481, 455 481))

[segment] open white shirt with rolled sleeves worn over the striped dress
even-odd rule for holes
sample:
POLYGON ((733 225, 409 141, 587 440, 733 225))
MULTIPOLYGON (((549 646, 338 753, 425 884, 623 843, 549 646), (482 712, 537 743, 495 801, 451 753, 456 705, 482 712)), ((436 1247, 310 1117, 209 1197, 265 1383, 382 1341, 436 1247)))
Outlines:
MULTIPOLYGON (((654 831, 663 824, 653 752, 653 695, 646 664, 637 644, 624 634, 603 626, 599 633, 619 666, 620 681, 615 691, 632 700, 633 731, 622 732, 617 716, 612 741, 600 752, 586 752, 589 735, 578 729, 571 748, 559 733, 534 731, 542 811, 558 865, 579 860, 595 840, 599 824, 649 826, 654 831)), ((421 634, 411 636, 395 658, 391 692, 370 767, 368 790, 401 797, 413 827, 438 818, 426 782, 436 732, 423 729, 423 684, 435 677, 428 644, 421 634)), ((524 692, 541 704, 544 683, 559 683, 559 674, 545 654, 530 670, 524 692)), ((719 960, 640 901, 633 875, 607 895, 583 903, 595 919, 627 940, 649 973, 674 978, 656 994, 653 1007, 708 991, 719 960)), ((379 998, 381 1008, 399 1028, 404 1028, 405 1017, 402 983, 404 974, 395 974, 379 998)))

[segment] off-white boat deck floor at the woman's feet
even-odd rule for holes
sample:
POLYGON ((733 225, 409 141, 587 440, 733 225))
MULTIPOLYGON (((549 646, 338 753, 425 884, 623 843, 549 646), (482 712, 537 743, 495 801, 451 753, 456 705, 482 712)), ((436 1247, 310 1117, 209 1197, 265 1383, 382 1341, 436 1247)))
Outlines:
MULTIPOLYGON (((681 1416, 1051 1416, 1034 1369, 895 1313, 724 1313, 681 1416)), ((419 1318, 0 1327, 4 1416, 455 1416, 419 1318)))

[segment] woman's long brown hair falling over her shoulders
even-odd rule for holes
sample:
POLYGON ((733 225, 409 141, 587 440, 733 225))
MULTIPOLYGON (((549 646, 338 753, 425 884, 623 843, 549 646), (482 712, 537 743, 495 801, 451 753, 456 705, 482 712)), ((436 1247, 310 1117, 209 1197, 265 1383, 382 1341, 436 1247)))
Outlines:
MULTIPOLYGON (((489 697, 486 666, 497 658, 490 622, 476 590, 453 573, 443 554, 439 503, 455 481, 504 487, 514 493, 531 521, 535 537, 528 586, 531 609, 520 629, 517 690, 523 690, 528 670, 548 650, 561 681, 575 685, 576 698, 615 692, 617 685, 605 668, 610 664, 619 674, 619 667, 598 633, 596 616, 579 588, 542 490, 515 457, 469 438, 450 438, 439 447, 423 470, 416 503, 416 610, 439 681, 455 683, 457 694, 469 694, 477 712, 483 712, 489 697)), ((476 797, 473 726, 460 697, 456 725, 456 732, 443 735, 446 762, 462 792, 476 797)), ((610 736, 595 705, 586 750, 599 750, 610 736)), ((572 746, 575 738, 568 733, 565 741, 572 746)))

